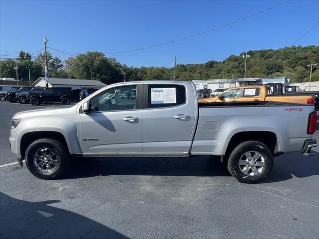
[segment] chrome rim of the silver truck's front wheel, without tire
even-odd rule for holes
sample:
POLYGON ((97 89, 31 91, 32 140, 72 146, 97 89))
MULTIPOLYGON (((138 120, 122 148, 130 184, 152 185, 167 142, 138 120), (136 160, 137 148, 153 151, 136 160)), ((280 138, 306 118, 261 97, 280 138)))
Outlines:
POLYGON ((48 173, 57 168, 59 160, 52 149, 40 148, 34 154, 33 163, 36 169, 48 173))

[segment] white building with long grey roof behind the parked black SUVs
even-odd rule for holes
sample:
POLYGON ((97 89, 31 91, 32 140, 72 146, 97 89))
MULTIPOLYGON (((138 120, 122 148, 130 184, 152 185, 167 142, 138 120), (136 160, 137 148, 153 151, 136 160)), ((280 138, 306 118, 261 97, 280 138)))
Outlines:
MULTIPOLYGON (((37 79, 32 86, 45 87, 45 77, 37 79)), ((106 85, 96 80, 78 80, 65 78, 49 78, 48 87, 71 87, 74 89, 97 88, 100 89, 106 85)))

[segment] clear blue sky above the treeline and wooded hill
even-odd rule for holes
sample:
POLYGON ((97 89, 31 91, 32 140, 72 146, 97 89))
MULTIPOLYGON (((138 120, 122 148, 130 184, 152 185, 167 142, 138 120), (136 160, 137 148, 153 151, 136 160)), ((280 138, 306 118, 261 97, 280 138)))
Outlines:
MULTIPOLYGON (((48 46, 104 53, 152 46, 202 32, 286 0, 0 0, 0 57, 48 46)), ((291 46, 319 21, 319 0, 292 0, 232 25, 151 49, 107 54, 128 66, 171 67, 224 60, 246 50, 291 46)), ((319 24, 296 45, 319 45, 319 24)), ((50 50, 61 59, 69 57, 50 50)), ((73 53, 72 53, 73 54, 73 53)), ((7 56, 9 57, 9 56, 7 56)))

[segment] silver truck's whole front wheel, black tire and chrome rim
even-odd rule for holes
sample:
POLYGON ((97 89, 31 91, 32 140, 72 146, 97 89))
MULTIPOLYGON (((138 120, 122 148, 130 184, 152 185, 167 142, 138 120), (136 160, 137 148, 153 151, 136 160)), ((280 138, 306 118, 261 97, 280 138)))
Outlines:
POLYGON ((25 152, 25 164, 35 177, 56 179, 69 167, 69 152, 59 141, 41 138, 32 142, 25 152))

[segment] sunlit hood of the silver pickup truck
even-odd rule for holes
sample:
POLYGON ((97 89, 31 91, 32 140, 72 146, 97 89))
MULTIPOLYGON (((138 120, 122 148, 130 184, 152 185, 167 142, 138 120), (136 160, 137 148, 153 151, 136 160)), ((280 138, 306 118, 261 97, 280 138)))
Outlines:
POLYGON ((12 119, 22 119, 26 117, 36 117, 36 116, 57 116, 57 115, 64 115, 64 114, 70 114, 73 113, 75 114, 75 111, 77 109, 77 105, 72 105, 72 106, 61 106, 61 107, 53 107, 49 106, 43 109, 39 110, 31 110, 31 111, 22 111, 16 113, 12 119))

